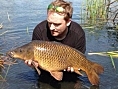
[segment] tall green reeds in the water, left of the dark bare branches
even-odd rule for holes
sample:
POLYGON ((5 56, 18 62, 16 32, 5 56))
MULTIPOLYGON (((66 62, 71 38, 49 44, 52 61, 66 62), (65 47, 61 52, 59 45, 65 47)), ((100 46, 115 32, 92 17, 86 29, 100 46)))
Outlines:
POLYGON ((86 0, 84 5, 85 13, 83 15, 84 23, 87 23, 89 26, 99 26, 106 22, 106 3, 106 0, 86 0))

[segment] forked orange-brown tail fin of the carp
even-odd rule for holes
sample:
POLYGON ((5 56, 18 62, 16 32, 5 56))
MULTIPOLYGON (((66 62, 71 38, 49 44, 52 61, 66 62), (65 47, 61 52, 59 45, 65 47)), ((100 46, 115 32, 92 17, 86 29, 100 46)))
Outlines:
POLYGON ((86 71, 89 81, 92 85, 99 85, 99 74, 104 71, 103 67, 97 63, 93 63, 91 70, 86 71))

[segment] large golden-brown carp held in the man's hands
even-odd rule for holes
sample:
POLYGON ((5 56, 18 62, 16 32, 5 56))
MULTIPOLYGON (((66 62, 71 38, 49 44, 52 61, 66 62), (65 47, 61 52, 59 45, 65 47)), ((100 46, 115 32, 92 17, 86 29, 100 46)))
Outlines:
POLYGON ((40 68, 59 81, 63 78, 63 70, 73 67, 79 75, 82 75, 79 70, 84 71, 92 85, 99 85, 99 74, 104 71, 100 64, 88 60, 80 51, 58 42, 34 40, 6 54, 12 58, 38 62, 40 68))

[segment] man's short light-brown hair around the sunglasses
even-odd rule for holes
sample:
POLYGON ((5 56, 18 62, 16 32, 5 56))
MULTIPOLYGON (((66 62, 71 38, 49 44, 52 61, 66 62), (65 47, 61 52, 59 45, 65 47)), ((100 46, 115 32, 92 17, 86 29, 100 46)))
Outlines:
POLYGON ((73 7, 72 7, 71 2, 67 2, 64 0, 56 0, 56 1, 53 1, 50 5, 53 5, 54 7, 62 7, 64 9, 64 12, 55 11, 54 8, 52 8, 52 9, 48 8, 47 11, 52 11, 52 12, 56 12, 58 14, 64 15, 64 19, 66 21, 68 21, 70 18, 72 18, 73 7))

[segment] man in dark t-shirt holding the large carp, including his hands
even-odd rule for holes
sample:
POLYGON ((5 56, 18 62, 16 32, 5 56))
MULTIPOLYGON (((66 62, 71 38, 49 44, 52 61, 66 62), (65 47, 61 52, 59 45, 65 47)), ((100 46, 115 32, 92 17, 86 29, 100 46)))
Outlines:
MULTIPOLYGON (((47 20, 42 21, 35 27, 32 40, 57 41, 85 53, 85 33, 78 23, 71 20, 72 13, 73 8, 70 2, 53 1, 47 8, 47 20)), ((32 60, 26 60, 25 63, 31 65, 32 60)), ((37 63, 35 65, 38 67, 37 63)), ((67 70, 74 71, 70 67, 67 70)), ((49 83, 56 81, 52 76, 48 78, 47 76, 50 76, 50 74, 41 70, 40 79, 50 80, 49 83)), ((76 81, 77 74, 65 71, 62 81, 64 80, 76 81)))

